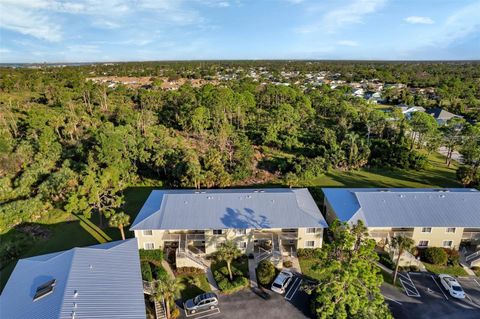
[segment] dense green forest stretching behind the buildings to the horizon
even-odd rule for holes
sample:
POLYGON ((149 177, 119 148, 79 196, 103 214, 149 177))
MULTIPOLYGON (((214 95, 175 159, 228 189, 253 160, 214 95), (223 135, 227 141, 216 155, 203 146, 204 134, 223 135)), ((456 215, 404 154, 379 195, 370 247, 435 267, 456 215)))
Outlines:
MULTIPOLYGON (((459 179, 478 185, 474 116, 467 117, 471 123, 439 127, 426 113, 407 120, 398 109, 384 112, 343 89, 263 85, 247 77, 174 91, 85 80, 92 74, 207 77, 250 63, 0 69, 0 232, 55 208, 109 217, 131 185, 229 187, 274 176, 296 186, 330 169, 419 170, 440 145, 462 152, 459 179), (265 153, 278 155, 267 160, 265 153)), ((478 64, 277 63, 264 67, 439 85, 465 110, 480 99, 478 64), (419 68, 429 75, 419 77, 419 68)))

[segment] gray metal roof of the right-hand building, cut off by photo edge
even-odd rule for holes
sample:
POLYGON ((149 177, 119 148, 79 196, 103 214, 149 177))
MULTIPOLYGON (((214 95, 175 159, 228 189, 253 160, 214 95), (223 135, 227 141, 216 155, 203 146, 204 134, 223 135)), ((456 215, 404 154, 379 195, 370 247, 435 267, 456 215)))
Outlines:
POLYGON ((324 188, 342 221, 368 227, 480 227, 480 192, 468 188, 324 188))

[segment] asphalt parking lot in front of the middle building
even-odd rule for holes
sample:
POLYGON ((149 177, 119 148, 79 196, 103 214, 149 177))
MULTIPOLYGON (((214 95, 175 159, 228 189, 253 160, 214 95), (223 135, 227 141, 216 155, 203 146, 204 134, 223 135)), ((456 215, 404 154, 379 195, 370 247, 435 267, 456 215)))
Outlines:
POLYGON ((231 295, 219 295, 218 308, 194 315, 186 314, 182 309, 181 318, 311 318, 310 296, 300 289, 301 283, 302 278, 295 276, 283 295, 267 290, 268 300, 261 298, 250 289, 231 295))

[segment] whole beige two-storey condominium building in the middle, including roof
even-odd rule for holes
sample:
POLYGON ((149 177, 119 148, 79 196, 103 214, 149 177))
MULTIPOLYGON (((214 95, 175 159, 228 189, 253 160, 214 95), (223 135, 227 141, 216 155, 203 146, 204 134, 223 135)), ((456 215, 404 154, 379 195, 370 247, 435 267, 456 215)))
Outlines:
POLYGON ((177 267, 205 266, 226 240, 279 262, 298 248, 320 248, 327 227, 306 188, 154 190, 130 230, 140 249, 175 254, 177 267))

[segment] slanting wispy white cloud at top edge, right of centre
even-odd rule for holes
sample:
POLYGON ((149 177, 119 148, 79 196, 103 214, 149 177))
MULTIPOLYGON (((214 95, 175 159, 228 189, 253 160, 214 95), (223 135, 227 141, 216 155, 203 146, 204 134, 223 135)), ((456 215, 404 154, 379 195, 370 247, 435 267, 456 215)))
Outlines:
POLYGON ((323 15, 319 23, 299 28, 300 33, 325 31, 335 33, 352 24, 363 22, 363 18, 379 10, 386 0, 352 0, 348 4, 331 10, 323 15))

